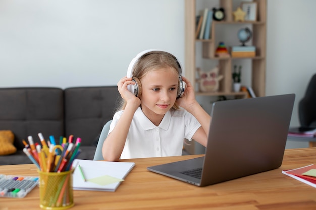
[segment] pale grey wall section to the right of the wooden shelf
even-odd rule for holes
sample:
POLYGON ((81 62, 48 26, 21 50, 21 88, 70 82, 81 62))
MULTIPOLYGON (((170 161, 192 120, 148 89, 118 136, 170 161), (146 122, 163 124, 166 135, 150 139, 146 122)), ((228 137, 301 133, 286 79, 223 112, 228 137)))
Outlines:
MULTIPOLYGON (((268 0, 266 95, 295 93, 291 126, 299 126, 298 102, 316 73, 316 1, 268 0)), ((308 147, 288 141, 287 148, 308 147)))

